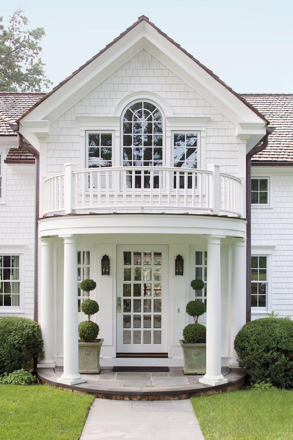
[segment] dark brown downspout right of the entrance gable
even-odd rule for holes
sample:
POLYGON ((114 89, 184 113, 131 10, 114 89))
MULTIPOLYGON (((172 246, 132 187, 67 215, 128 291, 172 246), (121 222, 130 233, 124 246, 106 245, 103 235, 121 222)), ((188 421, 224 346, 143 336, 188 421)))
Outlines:
POLYGON ((246 154, 246 323, 251 321, 251 158, 268 146, 268 136, 274 130, 267 127, 264 137, 246 154))

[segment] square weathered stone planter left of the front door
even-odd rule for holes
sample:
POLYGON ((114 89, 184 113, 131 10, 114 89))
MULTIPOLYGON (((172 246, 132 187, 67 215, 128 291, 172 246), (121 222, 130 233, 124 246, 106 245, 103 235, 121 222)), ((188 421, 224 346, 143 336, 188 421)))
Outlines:
POLYGON ((95 342, 79 342, 78 343, 78 367, 82 373, 101 372, 100 353, 104 339, 95 342))

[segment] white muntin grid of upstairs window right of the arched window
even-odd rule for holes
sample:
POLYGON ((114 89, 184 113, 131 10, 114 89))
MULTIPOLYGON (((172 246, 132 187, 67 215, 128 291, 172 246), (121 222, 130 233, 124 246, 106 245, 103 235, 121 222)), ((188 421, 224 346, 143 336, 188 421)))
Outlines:
MULTIPOLYGON (((178 132, 173 132, 173 147, 172 147, 172 161, 173 161, 173 166, 175 168, 192 168, 192 169, 197 169, 198 168, 198 161, 199 161, 199 157, 198 157, 198 141, 199 141, 199 135, 197 132, 193 132, 193 131, 178 131, 178 132), (184 137, 184 144, 183 145, 175 145, 176 142, 179 142, 179 136, 184 137), (187 145, 187 139, 189 138, 195 138, 195 145, 187 145), (178 139, 178 140, 176 140, 178 139), (191 152, 191 154, 195 154, 195 159, 192 160, 188 160, 187 159, 187 152, 188 149, 192 149, 194 150, 193 152, 191 152), (184 159, 182 160, 178 160, 175 158, 175 151, 178 150, 184 150, 184 159)), ((183 140, 183 139, 182 139, 183 140)), ((190 156, 188 156, 190 157, 190 156)), ((192 173, 188 173, 187 176, 187 187, 188 189, 192 189, 192 173)), ((176 184, 177 184, 177 178, 176 178, 176 173, 174 172, 174 189, 176 189, 176 184)), ((197 182, 196 182, 196 178, 195 178, 195 186, 196 186, 197 182)), ((184 172, 180 172, 179 173, 179 187, 181 189, 184 189, 184 172)))

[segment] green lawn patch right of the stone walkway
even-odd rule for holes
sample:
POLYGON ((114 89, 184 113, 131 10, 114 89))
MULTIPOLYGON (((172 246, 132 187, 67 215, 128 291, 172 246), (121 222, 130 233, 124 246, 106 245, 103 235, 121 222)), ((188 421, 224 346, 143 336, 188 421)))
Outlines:
POLYGON ((293 439, 293 391, 251 389, 192 399, 206 440, 293 439))

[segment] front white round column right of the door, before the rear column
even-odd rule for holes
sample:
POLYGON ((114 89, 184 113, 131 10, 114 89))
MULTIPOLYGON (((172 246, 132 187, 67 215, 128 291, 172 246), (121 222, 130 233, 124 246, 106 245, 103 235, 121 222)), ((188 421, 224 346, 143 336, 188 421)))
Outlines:
POLYGON ((221 374, 221 238, 207 239, 206 274, 206 374, 200 383, 228 382, 221 374))

